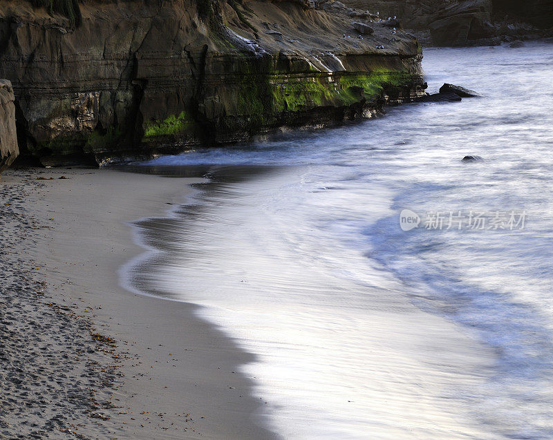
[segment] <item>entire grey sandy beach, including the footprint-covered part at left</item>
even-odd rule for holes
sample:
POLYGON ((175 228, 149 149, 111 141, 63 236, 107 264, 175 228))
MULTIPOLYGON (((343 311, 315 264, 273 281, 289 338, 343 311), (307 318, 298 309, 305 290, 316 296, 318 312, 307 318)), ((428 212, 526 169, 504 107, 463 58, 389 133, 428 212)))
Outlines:
POLYGON ((118 269, 143 251, 126 222, 162 215, 192 181, 105 169, 3 174, 0 438, 276 437, 238 374, 252 355, 194 305, 120 287, 118 269))

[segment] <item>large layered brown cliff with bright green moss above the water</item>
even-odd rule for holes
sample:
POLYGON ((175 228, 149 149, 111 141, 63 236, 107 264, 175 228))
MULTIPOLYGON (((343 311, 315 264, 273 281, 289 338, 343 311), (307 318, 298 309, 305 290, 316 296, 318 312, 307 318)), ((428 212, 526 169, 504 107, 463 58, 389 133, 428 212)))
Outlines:
POLYGON ((21 150, 44 163, 324 126, 424 92, 418 41, 339 1, 89 0, 79 23, 52 12, 0 2, 0 77, 21 150))

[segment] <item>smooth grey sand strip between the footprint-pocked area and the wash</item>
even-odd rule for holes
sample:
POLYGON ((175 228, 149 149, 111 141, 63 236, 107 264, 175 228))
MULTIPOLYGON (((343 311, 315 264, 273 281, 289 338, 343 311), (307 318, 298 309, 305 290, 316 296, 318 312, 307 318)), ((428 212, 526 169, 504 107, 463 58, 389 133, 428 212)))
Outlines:
MULTIPOLYGON (((238 372, 239 365, 253 361, 252 354, 194 314, 197 306, 120 286, 119 269, 144 254, 133 242, 129 222, 164 215, 168 203, 182 204, 193 182, 198 179, 110 169, 3 174, 3 188, 28 189, 25 215, 48 227, 35 233, 36 245, 19 258, 30 265, 39 262, 37 272, 54 303, 76 305, 77 316, 82 313, 98 334, 117 344, 113 356, 123 376, 112 375, 112 388, 104 390, 105 399, 117 408, 102 409, 106 420, 86 411, 74 414, 72 424, 83 438, 174 439, 184 432, 186 438, 277 438, 258 424, 261 403, 251 394, 251 379, 238 372), (91 421, 94 428, 79 430, 79 422, 91 421)), ((7 231, 12 232, 10 227, 7 231)), ((30 390, 39 394, 41 385, 30 390)))

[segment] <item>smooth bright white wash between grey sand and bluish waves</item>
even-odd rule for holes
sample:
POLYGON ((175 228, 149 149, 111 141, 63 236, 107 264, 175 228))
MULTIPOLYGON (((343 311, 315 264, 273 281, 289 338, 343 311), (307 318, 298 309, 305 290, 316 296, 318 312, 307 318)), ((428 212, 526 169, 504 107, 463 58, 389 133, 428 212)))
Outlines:
MULTIPOLYGON (((245 373, 256 378, 268 421, 284 438, 365 438, 363 432, 404 438, 406 430, 441 438, 435 437, 437 426, 451 438, 478 436, 465 412, 442 408, 440 399, 484 381, 491 371, 490 350, 442 316, 416 307, 398 283, 378 276, 380 271, 363 277, 374 288, 359 289, 357 281, 336 277, 332 269, 359 269, 356 260, 365 266, 366 258, 338 248, 336 260, 337 254, 325 251, 326 240, 306 232, 312 223, 303 221, 301 209, 279 198, 297 182, 317 182, 302 186, 302 194, 317 192, 324 183, 306 175, 305 166, 268 169, 213 166, 210 183, 177 218, 141 222, 160 255, 142 265, 144 272, 135 272, 139 286, 161 296, 193 298, 205 307, 204 316, 245 350, 259 353, 245 373), (319 264, 317 257, 330 257, 334 264, 319 264)), ((336 202, 328 193, 321 197, 336 202)), ((309 216, 323 217, 317 209, 309 216)), ((322 230, 328 232, 317 229, 322 230)))

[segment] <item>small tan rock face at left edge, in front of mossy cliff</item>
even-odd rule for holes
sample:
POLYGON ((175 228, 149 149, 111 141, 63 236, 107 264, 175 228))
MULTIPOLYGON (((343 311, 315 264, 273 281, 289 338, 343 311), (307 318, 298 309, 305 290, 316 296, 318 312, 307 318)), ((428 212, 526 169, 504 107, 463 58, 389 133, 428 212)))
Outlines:
POLYGON ((19 155, 12 84, 0 79, 0 173, 19 155))

